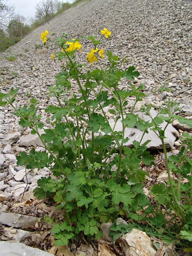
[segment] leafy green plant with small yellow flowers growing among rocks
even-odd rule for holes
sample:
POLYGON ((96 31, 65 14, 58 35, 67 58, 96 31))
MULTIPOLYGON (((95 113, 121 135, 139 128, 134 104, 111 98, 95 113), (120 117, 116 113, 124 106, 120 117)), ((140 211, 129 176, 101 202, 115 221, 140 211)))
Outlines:
MULTIPOLYGON (((191 125, 190 121, 174 114, 176 104, 171 101, 165 102, 155 118, 150 115, 151 105, 141 107, 151 121, 144 121, 134 112, 135 105, 148 95, 143 92, 143 85, 132 84, 139 72, 134 66, 125 68, 128 63, 126 57, 119 58, 99 47, 104 39, 110 39, 108 29, 100 31, 99 39, 95 35, 82 37, 93 44, 86 56, 81 52, 83 43, 80 39, 68 39, 67 34, 63 33, 54 41, 48 34, 47 30, 41 34, 42 42, 47 48, 48 43, 56 44, 57 51, 52 53, 51 58, 62 61, 62 71, 55 76, 55 85, 49 87, 49 97, 55 97, 57 104, 49 105, 45 110, 50 116, 47 127, 41 122, 36 99, 30 100, 29 107, 24 105, 17 109, 14 101, 18 90, 13 88, 8 94, 0 94, 0 99, 1 106, 8 103, 14 108, 20 117, 20 124, 30 127, 31 133, 39 136, 46 149, 44 152, 31 149, 29 154, 21 152, 17 156, 17 164, 31 170, 48 167, 50 174, 56 177, 42 177, 34 190, 35 196, 56 202, 57 209, 63 212, 62 223, 45 218, 54 223, 52 234, 55 243, 58 246, 66 245, 69 240, 76 239, 80 232, 90 239, 100 238, 101 222, 113 222, 118 216, 132 219, 130 227, 136 225, 148 233, 153 230, 153 235, 154 232, 170 235, 171 229, 167 231, 163 228, 167 222, 162 206, 166 214, 174 212, 174 220, 179 217, 182 225, 176 228, 181 230, 183 227, 180 235, 187 240, 190 232, 192 162, 186 154, 192 149, 192 138, 184 134, 185 145, 178 157, 172 157, 169 162, 164 132, 175 119, 188 125, 191 125), (83 63, 76 60, 77 52, 80 52, 78 57, 82 57, 83 63), (78 93, 74 93, 74 81, 78 93), (127 81, 127 89, 119 89, 122 81, 127 81), (130 97, 135 98, 135 103, 128 111, 127 99, 130 97), (116 131, 119 120, 122 130, 116 131), (164 121, 167 125, 161 128, 164 121), (129 140, 125 137, 125 128, 133 127, 143 131, 143 136, 140 141, 133 141, 134 148, 131 149, 124 146, 129 140), (39 129, 44 129, 44 132, 40 133, 39 129), (149 141, 142 143, 149 129, 162 141, 169 176, 169 184, 155 184, 151 188, 157 204, 155 208, 143 193, 143 182, 148 173, 140 165, 141 162, 145 165, 154 163, 154 157, 146 150, 149 141), (170 169, 178 173, 177 183, 172 180, 170 169), (183 176, 188 180, 185 185, 181 183, 183 176), (141 225, 143 220, 148 223, 145 227, 141 225)), ((158 92, 165 90, 167 88, 163 86, 158 92)), ((117 231, 118 227, 114 230, 117 231)))

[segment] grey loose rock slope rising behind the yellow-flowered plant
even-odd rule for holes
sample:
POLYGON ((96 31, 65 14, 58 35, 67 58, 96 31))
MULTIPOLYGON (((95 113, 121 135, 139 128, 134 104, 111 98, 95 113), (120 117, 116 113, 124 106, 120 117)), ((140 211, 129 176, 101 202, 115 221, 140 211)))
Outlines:
MULTIPOLYGON (((112 32, 112 39, 103 41, 102 48, 120 57, 127 55, 127 66, 135 65, 140 72, 135 85, 143 83, 146 92, 165 83, 171 89, 171 92, 150 95, 141 104, 161 106, 170 97, 179 103, 179 115, 192 119, 191 0, 88 0, 80 3, 0 54, 1 91, 8 92, 12 86, 20 89, 16 107, 29 104, 31 97, 37 98, 42 121, 47 126, 44 110, 56 100, 48 99, 46 92, 54 84, 54 75, 60 72, 61 63, 51 60, 50 55, 56 50, 53 44, 49 44, 48 50, 42 49, 40 34, 47 29, 57 37, 66 32, 72 39, 99 34, 104 27, 112 32), (12 55, 16 60, 10 62, 8 58, 12 55)), ((78 59, 86 62, 91 44, 82 42, 82 45, 78 59)), ((126 88, 125 81, 120 89, 126 88)), ((73 91, 78 93, 75 83, 73 91)), ((127 110, 132 105, 133 99, 130 99, 127 110)), ((140 105, 137 108, 139 110, 140 105)), ((32 136, 29 129, 23 129, 18 121, 10 107, 0 107, 0 197, 7 199, 18 199, 24 191, 34 189, 40 177, 49 175, 46 168, 31 173, 16 165, 19 152, 31 148, 45 150, 41 141, 32 136)), ((174 123, 174 127, 190 131, 179 123, 174 123)))

